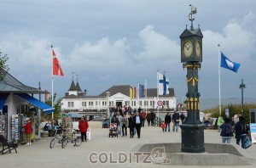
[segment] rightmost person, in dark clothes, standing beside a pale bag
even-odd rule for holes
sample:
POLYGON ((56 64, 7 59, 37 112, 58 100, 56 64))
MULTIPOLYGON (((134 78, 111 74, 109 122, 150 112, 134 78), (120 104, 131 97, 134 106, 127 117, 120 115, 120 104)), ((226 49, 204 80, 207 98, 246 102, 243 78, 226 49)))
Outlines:
POLYGON ((239 121, 236 122, 235 132, 236 132, 236 144, 239 145, 241 140, 241 148, 245 148, 244 143, 247 137, 248 128, 247 128, 247 123, 245 123, 243 120, 243 116, 240 116, 239 121))

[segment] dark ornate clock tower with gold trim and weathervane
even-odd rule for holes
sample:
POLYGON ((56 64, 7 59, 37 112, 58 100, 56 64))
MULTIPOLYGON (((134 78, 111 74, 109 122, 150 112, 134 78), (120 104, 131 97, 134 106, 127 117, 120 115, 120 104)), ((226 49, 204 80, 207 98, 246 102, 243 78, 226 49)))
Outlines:
POLYGON ((202 62, 202 38, 200 27, 194 29, 193 21, 196 8, 192 5, 189 14, 190 29, 186 27, 179 36, 181 40, 181 62, 183 69, 187 69, 186 94, 187 118, 180 126, 182 129, 182 152, 201 153, 205 151, 204 124, 200 120, 200 92, 198 92, 198 70, 202 62))

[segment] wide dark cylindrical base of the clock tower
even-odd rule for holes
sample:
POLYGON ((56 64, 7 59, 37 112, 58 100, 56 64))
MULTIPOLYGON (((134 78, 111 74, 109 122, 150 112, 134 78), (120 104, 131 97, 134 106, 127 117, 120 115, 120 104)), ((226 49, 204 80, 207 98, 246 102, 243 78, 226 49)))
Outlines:
POLYGON ((204 124, 182 124, 182 152, 202 153, 205 152, 204 124))

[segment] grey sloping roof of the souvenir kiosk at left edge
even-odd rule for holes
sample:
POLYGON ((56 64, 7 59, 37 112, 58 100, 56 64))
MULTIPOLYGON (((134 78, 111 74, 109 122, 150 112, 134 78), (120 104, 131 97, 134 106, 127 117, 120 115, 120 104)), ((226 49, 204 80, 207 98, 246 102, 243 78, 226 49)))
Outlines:
POLYGON ((3 76, 3 79, 0 79, 0 92, 44 93, 38 88, 24 85, 2 68, 0 68, 0 76, 3 76))

